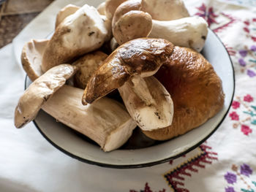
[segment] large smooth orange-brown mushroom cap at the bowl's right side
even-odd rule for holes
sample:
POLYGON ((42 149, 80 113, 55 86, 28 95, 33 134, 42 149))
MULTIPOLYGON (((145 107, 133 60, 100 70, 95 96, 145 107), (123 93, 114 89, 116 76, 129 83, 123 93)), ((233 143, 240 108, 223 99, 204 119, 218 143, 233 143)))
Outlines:
POLYGON ((173 123, 166 128, 143 131, 151 139, 165 140, 185 134, 205 123, 222 109, 222 81, 203 55, 186 47, 175 47, 170 63, 157 74, 173 99, 173 123))

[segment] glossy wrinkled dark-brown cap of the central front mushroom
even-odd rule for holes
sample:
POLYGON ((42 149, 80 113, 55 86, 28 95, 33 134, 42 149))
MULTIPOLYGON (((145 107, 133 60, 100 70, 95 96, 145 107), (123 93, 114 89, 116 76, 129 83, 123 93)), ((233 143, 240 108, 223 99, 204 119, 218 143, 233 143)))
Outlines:
POLYGON ((173 44, 165 39, 134 39, 118 47, 91 76, 83 93, 83 104, 105 96, 124 85, 132 75, 148 77, 169 62, 173 44))

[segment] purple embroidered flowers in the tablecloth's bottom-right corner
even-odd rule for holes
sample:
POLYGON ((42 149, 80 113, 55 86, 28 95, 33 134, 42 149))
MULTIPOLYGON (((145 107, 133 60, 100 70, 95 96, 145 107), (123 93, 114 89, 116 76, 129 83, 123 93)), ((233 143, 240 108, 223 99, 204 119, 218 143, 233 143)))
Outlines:
POLYGON ((227 172, 224 175, 225 180, 227 181, 228 184, 231 184, 232 186, 227 186, 225 188, 225 192, 234 192, 235 188, 234 185, 237 183, 237 180, 241 180, 244 185, 246 185, 245 188, 241 188, 241 191, 244 192, 254 192, 254 187, 256 187, 256 182, 249 180, 249 176, 252 174, 252 169, 248 164, 242 164, 240 166, 240 172, 238 172, 238 166, 236 164, 233 164, 232 167, 232 172, 227 172))

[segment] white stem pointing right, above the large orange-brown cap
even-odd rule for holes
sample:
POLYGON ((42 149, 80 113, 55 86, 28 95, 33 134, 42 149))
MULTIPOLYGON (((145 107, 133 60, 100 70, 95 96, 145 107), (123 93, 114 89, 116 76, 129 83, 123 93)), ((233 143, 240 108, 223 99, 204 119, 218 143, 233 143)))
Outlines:
POLYGON ((148 37, 163 38, 181 47, 190 47, 197 52, 203 49, 208 34, 208 24, 201 17, 178 20, 152 20, 153 28, 148 37))

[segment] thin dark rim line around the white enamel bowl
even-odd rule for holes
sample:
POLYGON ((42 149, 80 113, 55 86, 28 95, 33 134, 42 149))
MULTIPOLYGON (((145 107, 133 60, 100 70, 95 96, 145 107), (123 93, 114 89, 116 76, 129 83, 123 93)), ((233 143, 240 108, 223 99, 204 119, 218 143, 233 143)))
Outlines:
MULTIPOLYGON (((208 28, 208 30, 211 30, 210 28, 208 28)), ((212 30, 211 30, 212 31, 212 30)), ((219 39, 219 37, 217 36, 217 34, 214 33, 214 31, 212 31, 213 34, 217 37, 217 39, 219 39)), ((234 66, 233 66, 233 62, 230 58, 230 55, 228 54, 227 52, 227 49, 225 47, 225 45, 223 44, 223 42, 221 41, 221 39, 219 39, 219 42, 222 43, 223 47, 225 48, 226 50, 226 53, 228 55, 228 58, 230 59, 230 64, 231 64, 231 67, 233 69, 233 93, 232 93, 232 98, 231 98, 231 101, 230 101, 230 105, 229 107, 227 108, 227 112, 225 112, 225 115, 223 115, 223 118, 222 120, 219 122, 219 124, 216 126, 216 128, 214 128, 213 131, 211 131, 210 134, 208 134, 207 137, 205 137, 204 139, 202 139, 200 142, 197 142, 197 144, 193 145, 192 147, 189 147, 187 150, 185 150, 184 152, 181 152, 179 153, 178 155, 174 155, 174 156, 170 156, 168 158, 165 158, 165 159, 162 159, 162 160, 159 160, 159 161, 153 161, 153 162, 150 162, 150 163, 145 163, 145 164, 132 164, 132 165, 129 165, 129 164, 124 164, 124 165, 114 165, 114 164, 104 164, 104 163, 100 163, 100 162, 97 162, 97 161, 90 161, 86 158, 80 158, 79 156, 77 155, 74 155, 70 152, 68 152, 67 150, 64 150, 64 148, 61 148, 59 147, 59 145, 57 145, 56 143, 54 143, 52 140, 50 140, 45 134, 44 132, 39 128, 39 126, 37 125, 37 122, 35 120, 33 120, 33 123, 34 125, 37 127, 38 131, 40 132, 40 134, 42 134, 43 137, 45 137, 46 140, 48 140, 48 142, 50 142, 51 145, 53 145, 54 147, 56 147, 57 149, 61 150, 61 152, 69 155, 70 157, 72 158, 75 158, 77 159, 78 161, 82 161, 84 163, 87 163, 87 164, 92 164, 92 165, 97 165, 97 166, 102 166, 102 167, 106 167, 106 168, 115 168, 115 169, 134 169, 134 168, 142 168, 142 167, 146 167, 146 166, 154 166, 154 165, 157 165, 157 164, 163 164, 167 161, 170 161, 170 160, 173 160, 175 158, 178 158, 182 155, 185 155, 186 153, 189 153, 189 151, 191 150, 194 150, 196 147, 200 146, 203 142, 206 141, 206 139, 208 139, 209 137, 211 137, 212 134, 214 134, 215 131, 217 131, 217 129, 219 128, 219 126, 222 124, 223 120, 225 120, 225 117, 227 116, 227 113, 229 112, 230 110, 230 107, 231 107, 231 104, 232 104, 232 101, 233 101, 233 97, 234 97, 234 93, 235 93, 235 71, 234 71, 234 66)), ((27 75, 26 75, 26 79, 25 79, 25 90, 26 90, 26 81, 27 81, 27 75)))

